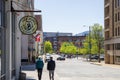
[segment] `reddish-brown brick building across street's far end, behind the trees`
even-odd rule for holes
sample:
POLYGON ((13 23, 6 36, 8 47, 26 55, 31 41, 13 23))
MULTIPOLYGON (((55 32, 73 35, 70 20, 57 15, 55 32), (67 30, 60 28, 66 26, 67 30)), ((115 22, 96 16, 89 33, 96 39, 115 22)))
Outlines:
POLYGON ((50 41, 52 43, 53 50, 55 52, 60 52, 60 47, 63 42, 72 42, 76 47, 83 47, 83 41, 86 36, 57 36, 57 37, 46 37, 45 41, 50 41))

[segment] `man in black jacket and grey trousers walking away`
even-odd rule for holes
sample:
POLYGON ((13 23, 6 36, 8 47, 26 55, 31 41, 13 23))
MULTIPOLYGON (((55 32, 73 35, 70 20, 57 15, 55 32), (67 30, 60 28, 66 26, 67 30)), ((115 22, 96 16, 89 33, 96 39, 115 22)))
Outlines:
POLYGON ((49 70, 50 80, 54 80, 55 61, 53 57, 50 57, 50 61, 47 64, 47 70, 49 70))

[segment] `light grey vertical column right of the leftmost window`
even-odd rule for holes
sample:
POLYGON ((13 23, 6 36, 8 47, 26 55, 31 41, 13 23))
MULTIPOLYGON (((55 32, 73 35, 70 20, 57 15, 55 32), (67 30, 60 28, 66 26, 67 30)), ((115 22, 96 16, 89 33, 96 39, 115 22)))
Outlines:
POLYGON ((12 78, 12 18, 11 1, 6 2, 6 80, 12 78))

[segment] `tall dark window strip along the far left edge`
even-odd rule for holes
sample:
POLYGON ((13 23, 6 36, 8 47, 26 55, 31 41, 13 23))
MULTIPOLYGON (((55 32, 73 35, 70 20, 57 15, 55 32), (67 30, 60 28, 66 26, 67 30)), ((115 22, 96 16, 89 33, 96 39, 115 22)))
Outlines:
POLYGON ((4 0, 0 0, 0 80, 5 80, 4 0))

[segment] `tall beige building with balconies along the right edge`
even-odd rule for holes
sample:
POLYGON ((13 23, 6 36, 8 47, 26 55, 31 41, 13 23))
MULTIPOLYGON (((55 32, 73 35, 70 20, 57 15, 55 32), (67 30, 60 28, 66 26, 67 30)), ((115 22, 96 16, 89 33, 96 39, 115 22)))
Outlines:
POLYGON ((120 0, 104 0, 105 63, 120 64, 120 0))

